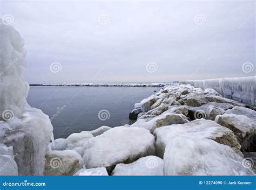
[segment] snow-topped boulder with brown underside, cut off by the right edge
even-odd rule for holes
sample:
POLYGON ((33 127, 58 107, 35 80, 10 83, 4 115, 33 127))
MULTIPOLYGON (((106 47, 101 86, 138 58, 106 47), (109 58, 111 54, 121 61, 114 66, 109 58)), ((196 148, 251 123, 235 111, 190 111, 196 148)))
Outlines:
POLYGON ((232 130, 242 145, 249 136, 254 135, 256 123, 253 123, 250 118, 243 115, 224 114, 218 115, 215 121, 226 128, 232 130))

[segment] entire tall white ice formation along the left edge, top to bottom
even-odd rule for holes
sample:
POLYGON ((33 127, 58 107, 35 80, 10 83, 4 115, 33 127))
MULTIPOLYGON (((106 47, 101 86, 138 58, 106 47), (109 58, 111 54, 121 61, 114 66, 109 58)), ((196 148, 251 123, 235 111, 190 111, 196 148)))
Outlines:
POLYGON ((0 21, 0 165, 5 166, 1 175, 42 175, 52 135, 49 116, 26 103, 23 46, 19 33, 0 21))

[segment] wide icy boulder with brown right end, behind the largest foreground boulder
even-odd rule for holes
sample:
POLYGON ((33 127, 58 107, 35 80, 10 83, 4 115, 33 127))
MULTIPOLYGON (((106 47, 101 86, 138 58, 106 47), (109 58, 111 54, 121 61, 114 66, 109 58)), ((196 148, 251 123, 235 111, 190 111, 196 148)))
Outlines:
POLYGON ((156 153, 160 158, 164 156, 166 145, 178 136, 212 139, 218 143, 231 146, 237 153, 241 154, 241 145, 235 138, 234 133, 211 120, 196 119, 183 125, 162 126, 154 131, 154 136, 156 136, 156 153))

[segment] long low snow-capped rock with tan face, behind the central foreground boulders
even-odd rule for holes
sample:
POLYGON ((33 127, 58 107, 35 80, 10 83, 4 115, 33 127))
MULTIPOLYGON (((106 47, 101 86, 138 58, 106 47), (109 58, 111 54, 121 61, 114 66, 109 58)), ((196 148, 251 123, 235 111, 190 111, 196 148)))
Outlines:
POLYGON ((187 123, 187 117, 183 114, 170 114, 169 112, 164 112, 158 117, 154 117, 147 121, 147 119, 138 119, 137 122, 133 123, 131 127, 139 127, 150 130, 151 133, 157 128, 165 125, 172 124, 183 124, 187 123))

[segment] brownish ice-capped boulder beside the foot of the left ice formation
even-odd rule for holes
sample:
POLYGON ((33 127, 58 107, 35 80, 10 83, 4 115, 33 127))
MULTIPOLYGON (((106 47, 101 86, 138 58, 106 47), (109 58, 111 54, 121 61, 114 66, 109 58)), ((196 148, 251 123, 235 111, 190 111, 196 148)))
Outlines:
POLYGON ((73 175, 82 165, 83 159, 75 150, 48 151, 44 175, 73 175))

